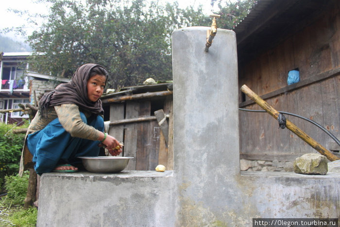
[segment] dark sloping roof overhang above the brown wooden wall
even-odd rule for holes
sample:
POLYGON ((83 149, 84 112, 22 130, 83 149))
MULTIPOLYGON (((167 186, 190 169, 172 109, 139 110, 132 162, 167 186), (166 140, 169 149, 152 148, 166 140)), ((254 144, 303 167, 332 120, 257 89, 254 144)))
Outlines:
POLYGON ((303 29, 337 0, 258 0, 234 29, 238 61, 258 55, 303 29))

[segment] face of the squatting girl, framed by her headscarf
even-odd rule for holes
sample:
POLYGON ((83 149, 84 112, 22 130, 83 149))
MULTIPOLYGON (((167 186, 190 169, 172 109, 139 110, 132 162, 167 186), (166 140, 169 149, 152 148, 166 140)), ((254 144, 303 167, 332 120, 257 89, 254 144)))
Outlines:
POLYGON ((87 80, 87 97, 92 102, 97 102, 97 100, 102 96, 104 92, 106 77, 103 75, 95 75, 87 80))

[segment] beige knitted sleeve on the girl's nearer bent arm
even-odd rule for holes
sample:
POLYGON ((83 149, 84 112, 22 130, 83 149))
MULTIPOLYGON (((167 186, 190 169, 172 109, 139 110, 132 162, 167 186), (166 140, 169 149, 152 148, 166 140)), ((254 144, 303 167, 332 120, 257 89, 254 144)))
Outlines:
POLYGON ((59 122, 72 137, 98 140, 100 131, 87 125, 80 117, 79 107, 75 104, 54 106, 59 122))

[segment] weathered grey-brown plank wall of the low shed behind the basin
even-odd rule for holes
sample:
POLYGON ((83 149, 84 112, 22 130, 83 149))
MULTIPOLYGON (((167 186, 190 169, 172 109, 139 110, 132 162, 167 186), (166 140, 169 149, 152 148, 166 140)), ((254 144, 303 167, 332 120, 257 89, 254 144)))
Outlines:
MULTIPOLYGON (((150 100, 110 104, 110 122, 153 116, 150 100)), ((156 120, 112 125, 109 134, 124 142, 123 156, 135 157, 125 170, 154 170, 158 164, 173 169, 172 153, 172 96, 164 99, 163 111, 169 114, 169 144, 156 120)))

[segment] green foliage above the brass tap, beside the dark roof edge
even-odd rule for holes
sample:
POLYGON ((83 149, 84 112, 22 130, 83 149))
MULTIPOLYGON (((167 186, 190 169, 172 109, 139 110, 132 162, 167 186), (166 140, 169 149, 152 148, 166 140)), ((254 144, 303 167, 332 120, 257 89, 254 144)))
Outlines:
POLYGON ((211 4, 217 3, 219 12, 216 14, 221 15, 218 19, 218 27, 224 29, 233 29, 238 23, 247 16, 250 9, 254 6, 257 0, 211 0, 211 4))

